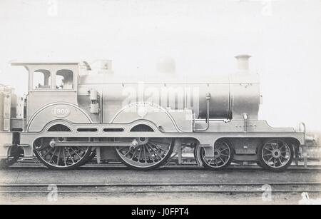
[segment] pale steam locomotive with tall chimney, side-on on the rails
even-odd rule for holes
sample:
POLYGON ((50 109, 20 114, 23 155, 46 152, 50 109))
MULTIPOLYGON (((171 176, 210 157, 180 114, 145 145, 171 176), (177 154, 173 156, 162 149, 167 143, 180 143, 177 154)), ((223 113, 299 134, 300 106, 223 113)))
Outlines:
MULTIPOLYGON (((299 149, 305 146, 305 125, 301 124, 302 131, 295 131, 272 128, 258 120, 258 78, 248 74, 250 56, 237 58, 241 76, 218 83, 218 88, 213 88, 216 83, 212 82, 197 83, 203 89, 199 95, 201 116, 185 105, 186 96, 181 108, 144 98, 120 105, 116 102, 119 89, 137 88, 137 84, 119 82, 119 78, 106 83, 111 78, 108 74, 103 76, 105 83, 88 82, 88 78, 101 76, 91 73, 86 62, 12 62, 29 71, 29 93, 24 116, 11 115, 11 127, 0 133, 1 162, 12 164, 19 156, 36 156, 47 167, 63 170, 83 165, 93 156, 98 161, 116 156, 131 168, 147 170, 164 165, 173 148, 188 146, 198 165, 213 170, 231 162, 285 169, 293 159, 302 158, 299 149), (44 83, 34 84, 35 72, 44 74, 44 83), (56 84, 58 77, 64 82, 56 84), (228 101, 223 100, 220 85, 227 88, 228 101), (218 104, 213 99, 218 99, 218 104), (220 110, 221 104, 228 109, 220 110)), ((171 84, 157 83, 162 87, 171 84)))

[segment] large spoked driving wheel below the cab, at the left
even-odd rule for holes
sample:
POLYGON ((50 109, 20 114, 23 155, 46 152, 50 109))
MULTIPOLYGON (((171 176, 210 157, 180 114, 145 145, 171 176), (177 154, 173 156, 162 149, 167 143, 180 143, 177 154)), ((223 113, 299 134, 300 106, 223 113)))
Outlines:
POLYGON ((68 141, 68 138, 39 138, 34 145, 34 153, 48 168, 69 170, 83 163, 91 154, 91 147, 54 146, 54 142, 68 141))

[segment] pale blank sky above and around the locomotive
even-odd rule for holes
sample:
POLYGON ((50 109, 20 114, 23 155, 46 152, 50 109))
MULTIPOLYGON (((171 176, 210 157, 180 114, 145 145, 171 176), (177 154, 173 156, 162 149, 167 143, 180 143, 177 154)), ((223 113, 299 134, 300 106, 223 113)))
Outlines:
POLYGON ((0 83, 25 93, 16 60, 113 60, 115 73, 228 74, 250 54, 261 76, 260 118, 321 131, 321 1, 0 1, 0 83))

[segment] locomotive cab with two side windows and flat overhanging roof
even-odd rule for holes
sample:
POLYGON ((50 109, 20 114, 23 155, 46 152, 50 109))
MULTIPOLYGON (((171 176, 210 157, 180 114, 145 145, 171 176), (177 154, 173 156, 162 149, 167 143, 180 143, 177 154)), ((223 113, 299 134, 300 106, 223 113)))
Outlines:
POLYGON ((26 96, 26 123, 39 109, 51 103, 77 105, 79 62, 28 63, 11 62, 29 71, 29 93, 26 96))

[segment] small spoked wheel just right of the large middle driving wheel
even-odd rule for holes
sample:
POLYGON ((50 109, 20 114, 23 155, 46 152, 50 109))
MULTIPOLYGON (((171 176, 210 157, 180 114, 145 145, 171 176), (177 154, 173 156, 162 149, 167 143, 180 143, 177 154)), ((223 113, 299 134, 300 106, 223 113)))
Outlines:
POLYGON ((228 167, 233 160, 234 151, 227 141, 218 140, 214 145, 214 157, 205 158, 205 149, 200 149, 200 159, 205 168, 221 170, 228 167))

